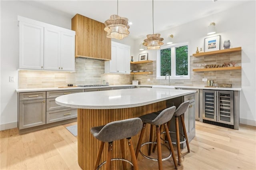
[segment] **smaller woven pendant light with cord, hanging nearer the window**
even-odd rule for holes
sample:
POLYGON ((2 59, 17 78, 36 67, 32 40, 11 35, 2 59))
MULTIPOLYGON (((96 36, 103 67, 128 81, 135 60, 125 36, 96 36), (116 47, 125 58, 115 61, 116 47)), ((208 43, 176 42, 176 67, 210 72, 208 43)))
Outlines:
POLYGON ((147 39, 144 40, 144 46, 148 49, 160 49, 160 46, 164 43, 162 42, 164 38, 160 38, 160 34, 154 34, 154 0, 152 0, 152 21, 153 21, 153 34, 148 34, 147 39))

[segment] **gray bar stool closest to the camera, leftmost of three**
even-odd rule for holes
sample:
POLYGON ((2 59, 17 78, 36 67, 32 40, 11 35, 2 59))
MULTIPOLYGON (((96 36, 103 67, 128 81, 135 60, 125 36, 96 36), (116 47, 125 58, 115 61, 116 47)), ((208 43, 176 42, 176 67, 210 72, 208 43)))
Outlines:
MULTIPOLYGON (((122 121, 114 121, 104 126, 92 127, 90 129, 91 133, 95 138, 100 140, 100 148, 98 150, 94 170, 98 170, 105 163, 106 163, 105 170, 110 170, 110 164, 112 160, 122 160, 122 161, 128 162, 133 166, 134 170, 138 170, 138 163, 135 156, 134 146, 132 144, 131 137, 138 134, 141 128, 142 128, 142 121, 139 118, 125 119, 122 121), (126 138, 128 141, 132 162, 124 159, 125 158, 124 138, 126 138), (113 141, 115 140, 120 140, 122 158, 111 159, 113 141), (100 164, 100 158, 102 155, 105 142, 108 142, 107 158, 106 158, 106 161, 100 164)), ((123 162, 124 170, 126 170, 125 162, 123 162)))

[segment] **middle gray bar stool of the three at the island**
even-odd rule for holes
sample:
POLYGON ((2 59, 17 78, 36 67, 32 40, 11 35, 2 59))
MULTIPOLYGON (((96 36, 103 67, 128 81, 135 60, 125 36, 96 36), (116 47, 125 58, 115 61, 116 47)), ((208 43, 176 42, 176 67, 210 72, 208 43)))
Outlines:
MULTIPOLYGON (((177 162, 176 162, 176 158, 175 158, 175 154, 174 154, 174 149, 173 149, 173 146, 172 146, 172 140, 170 138, 169 129, 168 129, 168 126, 167 126, 167 122, 172 119, 172 117, 174 115, 174 112, 175 112, 175 109, 176 109, 176 107, 173 106, 173 107, 169 107, 167 109, 164 109, 160 114, 158 114, 157 112, 154 112, 154 113, 149 113, 147 115, 143 115, 143 116, 140 117, 140 119, 143 122, 143 127, 142 127, 142 130, 140 132, 140 138, 139 138, 138 145, 137 145, 137 148, 136 148, 136 153, 135 153, 136 158, 138 158, 138 153, 140 152, 140 148, 142 146, 144 146, 145 144, 149 144, 149 147, 150 147, 149 148, 149 155, 150 155, 151 150, 152 150, 152 144, 156 144, 157 145, 158 159, 150 158, 150 157, 145 156, 144 154, 142 154, 142 152, 140 152, 140 153, 145 158, 148 158, 148 159, 154 160, 154 161, 158 161, 159 170, 163 169, 162 168, 162 161, 169 159, 171 156, 172 156, 173 161, 174 161, 174 166, 177 169, 177 162), (151 128, 150 128, 150 142, 146 142, 144 144, 141 144, 147 123, 151 125, 151 128), (162 159, 161 140, 160 140, 160 126, 162 126, 162 125, 164 126, 164 129, 166 131, 166 136, 167 136, 168 144, 169 144, 169 147, 170 147, 170 148, 168 148, 166 146, 170 150, 170 155, 166 158, 163 158, 163 159, 162 159), (152 142, 154 126, 156 126, 156 142, 152 142)), ((164 144, 162 144, 162 145, 165 146, 164 144)))

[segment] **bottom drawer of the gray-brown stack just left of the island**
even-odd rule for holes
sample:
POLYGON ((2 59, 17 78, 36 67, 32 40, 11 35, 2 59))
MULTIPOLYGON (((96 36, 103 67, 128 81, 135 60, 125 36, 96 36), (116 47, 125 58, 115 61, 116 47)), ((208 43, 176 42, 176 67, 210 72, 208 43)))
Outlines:
POLYGON ((63 121, 66 119, 72 119, 75 117, 77 117, 77 109, 74 108, 46 111, 46 124, 63 121))

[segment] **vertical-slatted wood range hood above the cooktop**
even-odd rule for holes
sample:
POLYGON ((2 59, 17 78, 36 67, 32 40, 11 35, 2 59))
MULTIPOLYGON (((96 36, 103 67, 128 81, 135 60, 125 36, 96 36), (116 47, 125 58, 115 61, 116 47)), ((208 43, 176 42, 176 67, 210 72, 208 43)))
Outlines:
POLYGON ((76 32, 76 58, 111 60, 111 38, 106 37, 104 28, 105 24, 80 14, 72 18, 72 30, 76 32))

